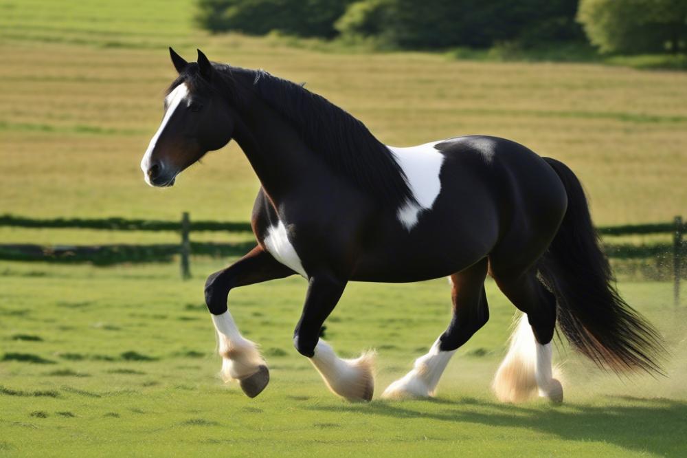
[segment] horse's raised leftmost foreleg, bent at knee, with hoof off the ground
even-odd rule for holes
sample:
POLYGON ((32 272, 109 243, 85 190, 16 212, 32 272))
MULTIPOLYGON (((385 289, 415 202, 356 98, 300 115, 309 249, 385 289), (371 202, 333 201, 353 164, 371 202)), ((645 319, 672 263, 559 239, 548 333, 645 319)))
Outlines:
POLYGON ((229 291, 234 287, 280 279, 293 273, 293 270, 257 246, 228 268, 210 275, 205 282, 205 303, 217 331, 222 376, 227 382, 238 380, 241 389, 249 397, 256 397, 267 386, 269 371, 256 344, 238 331, 227 309, 229 291))

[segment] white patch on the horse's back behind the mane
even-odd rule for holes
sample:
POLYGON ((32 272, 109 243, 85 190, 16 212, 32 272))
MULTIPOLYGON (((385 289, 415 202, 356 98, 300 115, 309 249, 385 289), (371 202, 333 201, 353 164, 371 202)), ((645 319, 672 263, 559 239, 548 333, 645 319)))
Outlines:
POLYGON ((429 210, 441 191, 439 174, 444 155, 431 142, 409 148, 387 146, 401 166, 416 202, 407 202, 398 209, 398 220, 407 230, 418 223, 420 212, 429 210))

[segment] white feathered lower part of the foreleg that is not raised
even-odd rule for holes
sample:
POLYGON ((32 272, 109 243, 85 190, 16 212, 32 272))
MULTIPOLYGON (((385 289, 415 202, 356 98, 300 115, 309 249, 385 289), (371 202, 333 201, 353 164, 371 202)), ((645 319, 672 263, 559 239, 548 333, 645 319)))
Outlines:
POLYGON ((342 360, 322 339, 310 358, 328 388, 349 401, 372 400, 374 391, 374 351, 365 351, 354 360, 342 360))

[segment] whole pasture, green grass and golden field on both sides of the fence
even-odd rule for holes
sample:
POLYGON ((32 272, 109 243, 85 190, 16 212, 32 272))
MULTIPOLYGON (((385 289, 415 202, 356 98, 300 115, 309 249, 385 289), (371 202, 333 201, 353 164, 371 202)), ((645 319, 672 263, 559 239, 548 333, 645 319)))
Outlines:
MULTIPOLYGON (((685 212, 687 74, 622 67, 455 61, 443 54, 319 52, 284 39, 208 36, 192 1, 0 0, 0 212, 245 221, 258 182, 231 144, 151 189, 139 161, 174 76, 166 47, 304 81, 399 146, 488 133, 569 164, 598 224, 685 212)), ((199 235, 235 241, 235 235, 199 235)), ((166 243, 174 234, 0 228, 29 243, 166 243)), ((622 281, 673 352, 668 378, 618 379, 559 345, 562 406, 498 404, 488 384, 513 307, 493 285, 491 320, 449 364, 436 400, 346 404, 291 345, 306 283, 232 292, 272 381, 254 400, 217 377, 203 305, 230 260, 94 268, 0 264, 0 452, 7 455, 603 455, 687 453, 685 308, 671 285, 622 281)), ((343 356, 379 351, 376 393, 449 321, 445 279, 350 285, 327 323, 343 356), (363 318, 364 317, 364 318, 363 318)))

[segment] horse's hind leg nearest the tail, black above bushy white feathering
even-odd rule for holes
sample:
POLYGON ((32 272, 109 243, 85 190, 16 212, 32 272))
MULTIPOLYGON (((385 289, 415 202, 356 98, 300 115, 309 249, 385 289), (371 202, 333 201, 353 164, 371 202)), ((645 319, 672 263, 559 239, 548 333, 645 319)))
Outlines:
POLYGON ((541 397, 563 401, 563 386, 553 377, 551 340, 556 325, 556 298, 534 271, 519 276, 494 276, 510 301, 525 312, 510 338, 508 354, 496 373, 493 389, 504 402, 541 397))

